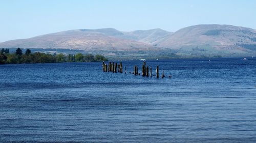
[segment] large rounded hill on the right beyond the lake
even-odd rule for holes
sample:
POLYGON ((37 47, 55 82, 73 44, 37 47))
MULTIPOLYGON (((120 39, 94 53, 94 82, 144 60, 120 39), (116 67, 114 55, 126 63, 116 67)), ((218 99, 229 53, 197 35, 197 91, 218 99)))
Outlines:
POLYGON ((232 25, 195 25, 153 44, 186 54, 250 55, 256 53, 256 31, 232 25))

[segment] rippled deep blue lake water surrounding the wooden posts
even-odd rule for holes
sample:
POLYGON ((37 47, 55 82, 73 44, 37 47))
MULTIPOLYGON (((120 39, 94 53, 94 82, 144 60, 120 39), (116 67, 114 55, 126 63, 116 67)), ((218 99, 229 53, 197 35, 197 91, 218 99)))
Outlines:
POLYGON ((147 65, 173 78, 0 65, 0 142, 256 142, 255 58, 147 65))

